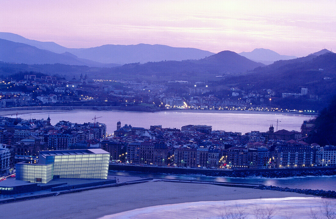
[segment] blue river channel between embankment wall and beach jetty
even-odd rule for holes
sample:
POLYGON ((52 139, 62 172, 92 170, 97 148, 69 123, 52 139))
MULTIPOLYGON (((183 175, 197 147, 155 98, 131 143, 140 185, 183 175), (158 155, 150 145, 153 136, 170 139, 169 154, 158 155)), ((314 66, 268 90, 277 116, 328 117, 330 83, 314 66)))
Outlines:
POLYGON ((288 177, 288 178, 233 178, 233 177, 212 177, 202 175, 168 175, 154 173, 109 171, 109 174, 120 176, 141 176, 149 178, 162 179, 184 179, 184 180, 202 180, 215 182, 239 182, 256 183, 263 185, 273 185, 288 188, 300 189, 323 189, 336 191, 336 176, 308 176, 308 177, 288 177))

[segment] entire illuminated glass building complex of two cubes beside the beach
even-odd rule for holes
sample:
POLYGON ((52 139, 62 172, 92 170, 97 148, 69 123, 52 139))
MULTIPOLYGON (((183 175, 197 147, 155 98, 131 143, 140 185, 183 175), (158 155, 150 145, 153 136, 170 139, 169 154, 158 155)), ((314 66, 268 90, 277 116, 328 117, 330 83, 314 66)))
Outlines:
POLYGON ((38 164, 16 164, 16 179, 47 183, 53 178, 107 179, 110 153, 102 149, 40 151, 38 164))

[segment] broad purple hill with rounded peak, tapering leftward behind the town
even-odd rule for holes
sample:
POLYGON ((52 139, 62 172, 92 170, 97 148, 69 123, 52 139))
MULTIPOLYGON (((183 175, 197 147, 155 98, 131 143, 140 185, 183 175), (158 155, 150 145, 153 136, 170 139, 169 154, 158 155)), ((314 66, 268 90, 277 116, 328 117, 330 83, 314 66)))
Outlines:
POLYGON ((112 68, 110 74, 122 73, 158 80, 206 80, 218 75, 246 73, 262 63, 251 61, 232 51, 222 51, 199 60, 132 63, 112 68))

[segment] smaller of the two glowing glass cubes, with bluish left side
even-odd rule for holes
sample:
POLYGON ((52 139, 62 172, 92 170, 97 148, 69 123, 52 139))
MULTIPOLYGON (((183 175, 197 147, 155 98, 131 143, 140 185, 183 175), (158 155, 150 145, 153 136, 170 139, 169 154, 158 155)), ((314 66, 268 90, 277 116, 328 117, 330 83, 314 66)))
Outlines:
POLYGON ((30 182, 47 183, 52 177, 53 164, 16 164, 16 179, 30 182))

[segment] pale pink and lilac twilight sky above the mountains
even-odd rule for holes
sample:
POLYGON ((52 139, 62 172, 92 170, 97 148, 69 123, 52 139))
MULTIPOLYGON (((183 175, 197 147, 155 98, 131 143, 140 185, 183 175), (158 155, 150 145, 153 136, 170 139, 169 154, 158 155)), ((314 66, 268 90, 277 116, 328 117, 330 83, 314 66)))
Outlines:
POLYGON ((70 48, 164 44, 211 52, 336 50, 330 0, 0 0, 0 32, 70 48))

